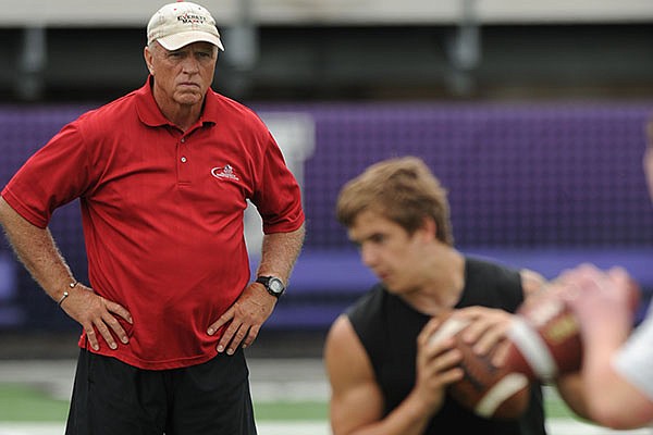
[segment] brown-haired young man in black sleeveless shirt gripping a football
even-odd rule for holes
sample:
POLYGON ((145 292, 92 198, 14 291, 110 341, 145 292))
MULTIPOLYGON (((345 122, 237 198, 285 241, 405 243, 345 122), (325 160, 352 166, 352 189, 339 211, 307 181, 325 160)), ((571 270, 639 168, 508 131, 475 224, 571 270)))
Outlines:
POLYGON ((439 316, 463 309, 475 320, 468 340, 486 352, 505 338, 509 313, 543 278, 456 250, 446 192, 418 158, 370 166, 344 186, 336 212, 380 282, 326 338, 333 433, 544 434, 539 386, 521 419, 480 418, 446 394, 461 377, 460 355, 451 340, 429 343, 439 316))

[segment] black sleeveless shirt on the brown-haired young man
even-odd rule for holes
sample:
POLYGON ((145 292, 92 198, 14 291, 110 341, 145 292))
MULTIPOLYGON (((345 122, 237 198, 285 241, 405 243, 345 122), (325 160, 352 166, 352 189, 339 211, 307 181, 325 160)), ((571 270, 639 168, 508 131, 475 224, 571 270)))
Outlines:
MULTIPOLYGON (((455 308, 483 306, 515 312, 523 300, 519 273, 498 264, 466 258, 465 288, 455 308)), ((417 336, 431 319, 377 284, 347 315, 360 338, 383 393, 384 415, 408 396, 415 385, 417 336)), ((429 422, 430 434, 542 435, 544 411, 542 390, 531 388, 530 407, 520 420, 502 421, 478 417, 446 398, 429 422)))

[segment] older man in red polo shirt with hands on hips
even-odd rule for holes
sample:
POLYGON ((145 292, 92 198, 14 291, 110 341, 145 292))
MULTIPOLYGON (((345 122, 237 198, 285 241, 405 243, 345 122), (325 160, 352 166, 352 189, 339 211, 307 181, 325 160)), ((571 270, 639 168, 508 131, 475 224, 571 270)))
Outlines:
POLYGON ((45 291, 83 327, 66 434, 256 434, 243 347, 304 240, 299 187, 272 135, 211 90, 209 11, 162 7, 138 90, 64 126, 2 190, 0 223, 45 291), (79 198, 88 286, 48 229, 79 198), (263 220, 258 279, 243 234, 263 220))

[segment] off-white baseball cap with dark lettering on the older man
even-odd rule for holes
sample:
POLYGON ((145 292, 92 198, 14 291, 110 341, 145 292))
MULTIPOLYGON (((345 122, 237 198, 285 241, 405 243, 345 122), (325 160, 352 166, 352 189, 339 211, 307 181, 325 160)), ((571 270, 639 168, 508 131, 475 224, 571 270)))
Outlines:
POLYGON ((171 51, 199 41, 224 51, 211 13, 189 1, 169 3, 155 12, 147 24, 147 44, 155 40, 171 51))

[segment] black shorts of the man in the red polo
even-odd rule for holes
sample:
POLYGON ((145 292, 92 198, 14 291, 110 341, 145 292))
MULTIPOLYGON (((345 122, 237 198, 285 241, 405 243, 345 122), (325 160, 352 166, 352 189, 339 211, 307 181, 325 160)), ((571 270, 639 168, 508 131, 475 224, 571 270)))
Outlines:
POLYGON ((66 435, 256 435, 243 350, 143 370, 79 352, 66 435))

